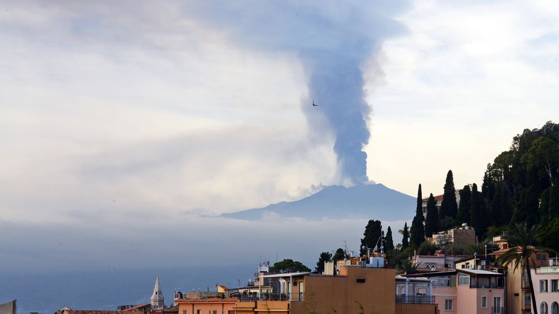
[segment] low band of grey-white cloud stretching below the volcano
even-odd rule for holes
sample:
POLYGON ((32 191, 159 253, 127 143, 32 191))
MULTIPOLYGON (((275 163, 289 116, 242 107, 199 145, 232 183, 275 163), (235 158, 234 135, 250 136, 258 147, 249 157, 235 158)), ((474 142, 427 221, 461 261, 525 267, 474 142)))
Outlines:
MULTIPOLYGON (((261 256, 275 258, 277 253, 279 259, 300 260, 314 268, 320 252, 343 247, 344 240, 350 250, 358 250, 367 224, 273 214, 253 222, 153 212, 97 212, 74 218, 73 223, 49 224, 0 221, 0 267, 19 273, 181 267, 185 261, 189 267, 239 265, 256 264, 261 256)), ((383 229, 394 230, 395 244, 401 241, 397 230, 403 225, 404 221, 383 222, 383 229)))

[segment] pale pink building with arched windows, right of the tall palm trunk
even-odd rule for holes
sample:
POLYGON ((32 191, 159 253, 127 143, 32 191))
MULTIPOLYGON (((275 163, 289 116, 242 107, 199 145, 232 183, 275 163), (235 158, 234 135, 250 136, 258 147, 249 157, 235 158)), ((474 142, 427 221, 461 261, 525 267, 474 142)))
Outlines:
MULTIPOLYGON (((532 268, 530 271, 538 313, 559 314, 559 259, 549 259, 548 266, 539 267, 537 270, 532 268)), ((532 299, 529 295, 526 297, 525 303, 530 305, 532 299)))

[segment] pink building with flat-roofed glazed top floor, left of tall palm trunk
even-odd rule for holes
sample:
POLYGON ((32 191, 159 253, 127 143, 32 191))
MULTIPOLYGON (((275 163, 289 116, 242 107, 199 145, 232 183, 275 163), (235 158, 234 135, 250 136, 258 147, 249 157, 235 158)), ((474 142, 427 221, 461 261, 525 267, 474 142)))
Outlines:
POLYGON ((483 269, 454 269, 405 277, 432 280, 440 314, 505 313, 504 274, 483 269))

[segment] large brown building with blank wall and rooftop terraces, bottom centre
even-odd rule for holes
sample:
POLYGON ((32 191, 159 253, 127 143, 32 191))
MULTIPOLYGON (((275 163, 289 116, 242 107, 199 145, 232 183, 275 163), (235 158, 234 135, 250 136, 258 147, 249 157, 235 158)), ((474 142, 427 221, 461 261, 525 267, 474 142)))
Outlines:
MULTIPOLYGON (((361 308, 364 313, 437 312, 433 299, 426 294, 430 293, 430 282, 426 285, 424 280, 415 280, 423 284, 425 298, 412 296, 419 290, 411 289, 409 282, 409 289, 400 289, 396 297, 396 272, 385 268, 382 254, 339 260, 336 264, 335 268, 331 264, 325 274, 260 272, 254 287, 239 289, 234 310, 237 314, 353 313, 361 308)), ((402 287, 405 286, 404 283, 402 287)))

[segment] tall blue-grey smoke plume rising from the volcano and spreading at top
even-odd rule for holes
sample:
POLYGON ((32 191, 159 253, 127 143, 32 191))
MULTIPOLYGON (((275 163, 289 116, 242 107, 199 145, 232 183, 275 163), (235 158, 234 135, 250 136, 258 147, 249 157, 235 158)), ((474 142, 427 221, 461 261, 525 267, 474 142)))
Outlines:
POLYGON ((371 135, 362 66, 383 40, 404 30, 393 17, 406 6, 402 1, 224 2, 219 9, 197 7, 196 17, 221 25, 243 45, 296 51, 309 77, 309 98, 301 105, 307 121, 314 132, 334 135, 340 182, 362 184, 369 181, 363 146, 371 135))

